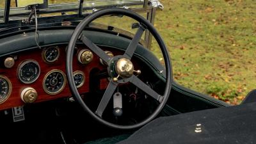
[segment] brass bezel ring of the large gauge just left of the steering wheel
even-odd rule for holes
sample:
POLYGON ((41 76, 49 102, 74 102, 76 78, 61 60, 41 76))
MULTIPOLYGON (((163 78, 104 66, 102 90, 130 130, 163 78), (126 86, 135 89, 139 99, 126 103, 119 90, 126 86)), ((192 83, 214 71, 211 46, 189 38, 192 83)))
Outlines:
POLYGON ((57 95, 58 93, 62 92, 63 89, 65 88, 67 84, 67 77, 66 77, 66 74, 62 71, 62 70, 58 70, 58 69, 54 69, 54 70, 51 70, 50 72, 47 72, 47 74, 45 74, 44 76, 44 80, 43 80, 43 89, 44 89, 44 92, 49 94, 49 95, 57 95), (64 84, 61 86, 60 90, 58 90, 57 92, 49 92, 45 86, 45 79, 46 77, 48 77, 52 72, 60 72, 60 74, 63 76, 63 80, 64 80, 64 84))

